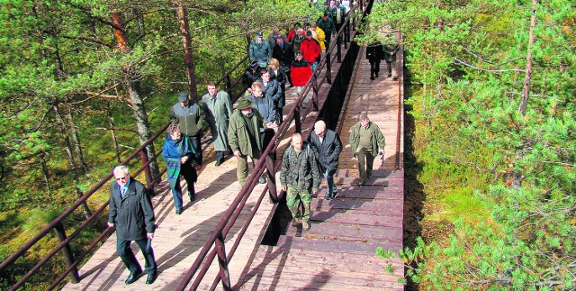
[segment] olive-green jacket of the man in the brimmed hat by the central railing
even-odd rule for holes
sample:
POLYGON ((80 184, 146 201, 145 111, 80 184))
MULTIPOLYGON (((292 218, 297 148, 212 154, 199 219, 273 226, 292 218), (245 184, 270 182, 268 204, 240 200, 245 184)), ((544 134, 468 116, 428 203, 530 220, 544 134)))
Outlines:
POLYGON ((259 133, 260 129, 266 126, 266 121, 262 118, 262 115, 258 113, 257 110, 252 110, 254 116, 250 118, 251 123, 245 123, 242 113, 237 109, 234 111, 230 117, 229 127, 228 127, 228 141, 230 144, 230 149, 233 151, 239 150, 242 155, 255 157, 255 153, 262 153, 262 144, 260 143, 259 133), (254 132, 257 136, 254 137, 257 144, 252 144, 249 137, 249 131, 246 126, 254 126, 254 132))

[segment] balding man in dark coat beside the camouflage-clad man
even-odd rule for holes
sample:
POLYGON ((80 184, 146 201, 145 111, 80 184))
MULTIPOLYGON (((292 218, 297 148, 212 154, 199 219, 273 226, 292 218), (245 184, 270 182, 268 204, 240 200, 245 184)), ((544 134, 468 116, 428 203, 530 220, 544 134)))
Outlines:
POLYGON ((324 196, 326 200, 332 200, 338 195, 338 188, 334 183, 334 174, 338 170, 338 156, 342 151, 342 141, 336 132, 326 128, 326 123, 318 121, 314 124, 308 141, 311 144, 314 155, 318 159, 320 171, 326 178, 328 191, 324 196))

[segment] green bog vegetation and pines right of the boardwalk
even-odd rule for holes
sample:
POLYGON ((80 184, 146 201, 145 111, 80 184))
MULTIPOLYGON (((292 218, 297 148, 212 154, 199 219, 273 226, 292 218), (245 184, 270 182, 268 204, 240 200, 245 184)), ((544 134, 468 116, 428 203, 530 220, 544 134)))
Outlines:
POLYGON ((424 240, 402 255, 421 289, 576 288, 574 8, 374 6, 371 27, 404 32, 417 159, 407 176, 425 201, 424 240))

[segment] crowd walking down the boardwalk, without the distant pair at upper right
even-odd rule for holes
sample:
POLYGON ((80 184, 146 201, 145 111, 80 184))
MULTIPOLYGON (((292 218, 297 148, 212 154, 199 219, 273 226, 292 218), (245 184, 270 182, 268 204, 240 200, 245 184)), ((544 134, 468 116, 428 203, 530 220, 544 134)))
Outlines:
MULTIPOLYGON (((347 6, 331 1, 324 6, 324 14, 318 22, 295 23, 287 36, 274 28, 265 41, 264 34, 257 32, 249 46, 251 61, 242 77, 246 95, 238 99, 236 109, 232 107, 228 93, 212 82, 207 84, 201 103, 190 100, 186 92, 178 94, 162 148, 175 214, 183 213, 180 177, 186 181, 188 198, 191 202, 195 200, 197 170, 204 163, 201 147, 204 128, 210 128, 214 165, 219 167, 227 156, 235 156, 238 184, 245 185, 249 174, 247 158, 250 157, 255 165, 279 124, 284 122, 286 83, 301 93, 320 60, 321 51, 328 50, 346 14, 347 6)), ((353 156, 358 160, 358 186, 364 186, 366 179, 372 176, 375 157, 383 154, 383 134, 363 115, 350 131, 350 144, 353 156)), ((321 177, 328 185, 324 199, 329 201, 338 196, 334 175, 342 149, 337 132, 328 129, 321 120, 314 124, 308 141, 302 141, 300 132, 293 133, 282 158, 280 187, 286 192, 294 227, 302 223, 303 230, 311 228, 311 200, 319 191, 321 177)), ((274 154, 271 158, 275 159, 274 154)), ((130 242, 135 241, 144 254, 146 284, 152 284, 157 278, 157 263, 151 247, 156 224, 150 196, 146 186, 130 177, 128 167, 120 165, 112 172, 115 181, 110 187, 108 225, 116 227, 117 251, 130 270, 124 282, 131 284, 142 273, 130 249, 130 242)), ((266 183, 265 177, 259 177, 258 181, 266 183)))

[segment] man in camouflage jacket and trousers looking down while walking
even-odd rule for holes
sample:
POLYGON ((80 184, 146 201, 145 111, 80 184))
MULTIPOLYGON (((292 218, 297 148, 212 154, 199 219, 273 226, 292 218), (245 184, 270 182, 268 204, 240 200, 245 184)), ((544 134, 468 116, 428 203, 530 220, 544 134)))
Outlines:
POLYGON ((314 151, 308 142, 302 141, 298 132, 292 136, 291 146, 284 151, 280 185, 286 191, 286 205, 292 213, 292 225, 302 221, 302 229, 310 230, 312 194, 318 193, 320 172, 316 164, 314 151), (299 214, 302 203, 302 215, 299 214))

